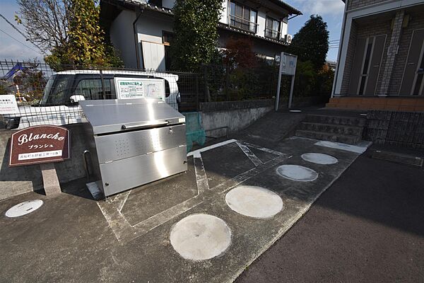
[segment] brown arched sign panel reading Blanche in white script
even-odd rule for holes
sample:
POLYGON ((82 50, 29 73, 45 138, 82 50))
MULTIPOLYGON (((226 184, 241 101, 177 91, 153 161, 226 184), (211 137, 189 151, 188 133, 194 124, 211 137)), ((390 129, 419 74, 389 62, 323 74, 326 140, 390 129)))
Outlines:
POLYGON ((12 134, 9 166, 63 161, 69 158, 69 130, 34 126, 12 134))

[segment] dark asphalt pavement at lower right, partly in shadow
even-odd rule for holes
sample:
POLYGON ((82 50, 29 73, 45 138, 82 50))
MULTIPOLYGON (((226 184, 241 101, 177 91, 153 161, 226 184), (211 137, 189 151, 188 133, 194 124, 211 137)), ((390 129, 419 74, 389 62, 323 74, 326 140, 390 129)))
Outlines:
POLYGON ((424 170, 371 150, 236 282, 424 282, 424 170))

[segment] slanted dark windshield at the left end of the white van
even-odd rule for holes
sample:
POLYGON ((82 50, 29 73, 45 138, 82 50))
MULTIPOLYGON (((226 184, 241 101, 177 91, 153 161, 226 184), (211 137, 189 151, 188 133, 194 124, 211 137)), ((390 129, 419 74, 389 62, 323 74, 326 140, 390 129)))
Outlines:
POLYGON ((40 105, 64 105, 69 93, 69 75, 53 75, 45 86, 40 105))

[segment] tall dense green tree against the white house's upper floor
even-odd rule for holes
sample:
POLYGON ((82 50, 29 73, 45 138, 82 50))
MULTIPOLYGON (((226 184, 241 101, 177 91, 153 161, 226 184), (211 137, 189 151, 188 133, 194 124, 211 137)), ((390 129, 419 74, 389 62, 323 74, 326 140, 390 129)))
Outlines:
POLYGON ((193 71, 216 58, 221 10, 221 0, 175 2, 175 36, 170 45, 172 69, 193 71))

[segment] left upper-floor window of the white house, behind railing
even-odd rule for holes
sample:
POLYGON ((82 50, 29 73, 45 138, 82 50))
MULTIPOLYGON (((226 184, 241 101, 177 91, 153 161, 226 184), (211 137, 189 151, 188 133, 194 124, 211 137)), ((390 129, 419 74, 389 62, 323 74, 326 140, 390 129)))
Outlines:
POLYGON ((257 33, 257 11, 249 6, 230 2, 230 25, 240 30, 257 33))

